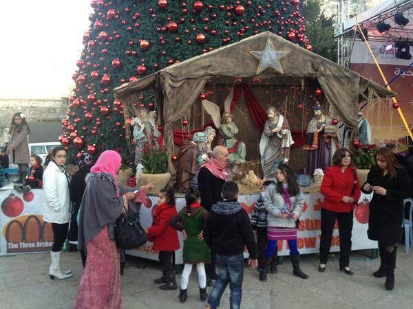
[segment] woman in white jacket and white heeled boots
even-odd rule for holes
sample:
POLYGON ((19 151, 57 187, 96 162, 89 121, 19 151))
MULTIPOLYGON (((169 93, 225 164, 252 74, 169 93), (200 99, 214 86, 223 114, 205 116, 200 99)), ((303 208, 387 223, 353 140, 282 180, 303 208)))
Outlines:
POLYGON ((50 255, 52 264, 49 267, 50 279, 66 279, 72 277, 72 271, 61 270, 63 244, 67 237, 70 222, 70 175, 66 168, 66 150, 56 147, 52 151, 52 161, 43 174, 43 190, 45 193, 45 209, 43 220, 52 223, 53 245, 50 255))

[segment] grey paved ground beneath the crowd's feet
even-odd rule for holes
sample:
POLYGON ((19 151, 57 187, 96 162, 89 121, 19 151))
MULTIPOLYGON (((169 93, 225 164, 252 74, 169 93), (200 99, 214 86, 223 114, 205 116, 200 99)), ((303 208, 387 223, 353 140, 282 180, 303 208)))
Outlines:
MULTIPOLYGON (((339 271, 337 255, 330 258, 325 273, 317 272, 315 255, 304 256, 302 269, 310 275, 306 280, 293 277, 288 258, 266 283, 258 280, 257 271, 248 268, 244 273, 242 308, 413 308, 413 252, 404 253, 404 247, 399 247, 396 286, 391 292, 384 289, 384 279, 372 277, 379 260, 371 260, 369 254, 370 251, 352 254, 353 276, 339 271)), ((82 273, 80 256, 64 253, 63 265, 70 267, 74 276, 53 281, 47 275, 49 257, 47 253, 37 253, 0 258, 1 308, 73 308, 82 273)), ((158 289, 153 279, 159 274, 156 262, 128 257, 122 277, 122 308, 204 308, 195 268, 185 304, 179 303, 178 290, 158 289)), ((229 288, 221 305, 229 308, 229 288)))

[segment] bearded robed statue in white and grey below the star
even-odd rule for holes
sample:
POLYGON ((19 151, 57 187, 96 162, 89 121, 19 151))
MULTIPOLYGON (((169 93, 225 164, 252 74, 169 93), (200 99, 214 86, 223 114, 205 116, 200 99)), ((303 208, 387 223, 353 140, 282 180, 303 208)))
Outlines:
POLYGON ((268 120, 260 141, 261 165, 264 179, 275 173, 278 165, 290 159, 290 146, 294 144, 288 120, 271 106, 266 110, 268 120))

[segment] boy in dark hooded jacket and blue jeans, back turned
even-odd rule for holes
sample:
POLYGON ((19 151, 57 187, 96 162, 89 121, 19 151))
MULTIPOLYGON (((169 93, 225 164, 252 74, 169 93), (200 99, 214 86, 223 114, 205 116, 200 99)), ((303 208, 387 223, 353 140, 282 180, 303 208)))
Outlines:
POLYGON ((214 204, 204 225, 204 240, 216 253, 218 279, 209 294, 207 308, 220 306, 222 293, 230 284, 231 309, 240 308, 244 277, 244 246, 251 268, 257 267, 257 244, 248 215, 237 202, 238 185, 227 181, 222 186, 223 201, 214 204))

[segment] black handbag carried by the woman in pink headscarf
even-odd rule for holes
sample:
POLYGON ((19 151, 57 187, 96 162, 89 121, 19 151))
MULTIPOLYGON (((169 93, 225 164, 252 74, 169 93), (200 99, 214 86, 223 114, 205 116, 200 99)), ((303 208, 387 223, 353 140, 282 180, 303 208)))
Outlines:
POLYGON ((130 214, 129 211, 116 220, 115 233, 116 244, 120 249, 136 249, 148 240, 147 233, 140 225, 139 215, 130 214))

